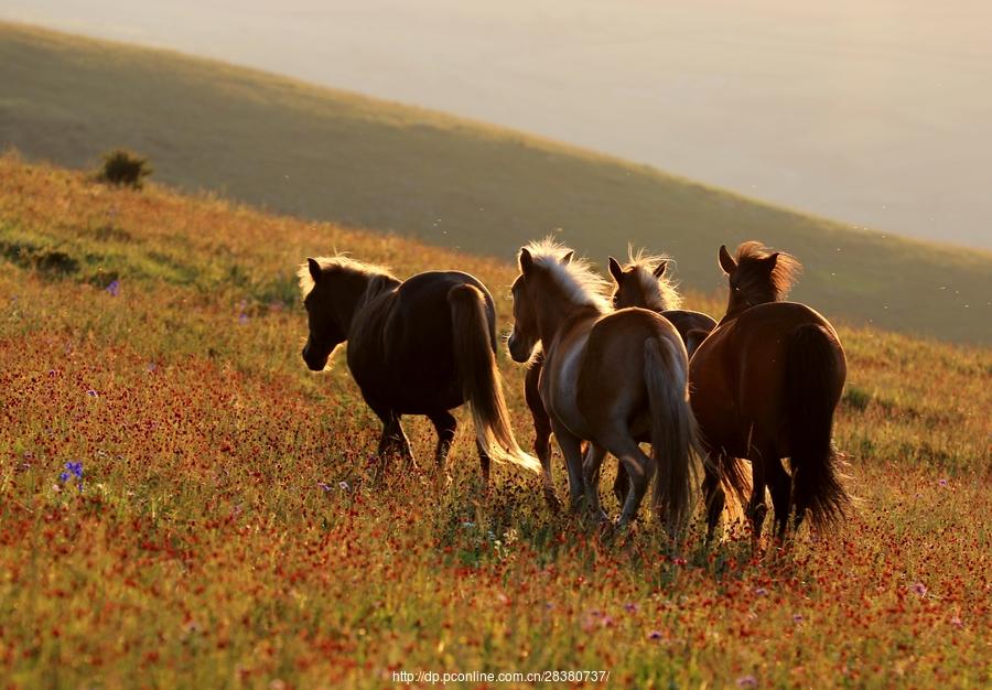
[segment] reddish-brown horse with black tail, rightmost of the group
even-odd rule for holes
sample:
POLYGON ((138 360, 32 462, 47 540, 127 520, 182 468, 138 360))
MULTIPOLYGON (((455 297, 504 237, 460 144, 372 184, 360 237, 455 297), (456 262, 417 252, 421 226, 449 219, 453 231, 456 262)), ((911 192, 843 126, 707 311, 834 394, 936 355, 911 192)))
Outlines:
MULTIPOLYGON (((692 409, 703 444, 718 459, 724 482, 744 493, 737 457, 752 462, 747 515, 761 539, 772 489, 779 538, 789 514, 796 525, 808 513, 817 528, 843 516, 849 503, 838 476, 831 434, 833 412, 847 375, 844 351, 823 316, 783 302, 801 269, 791 256, 761 242, 737 247, 736 258, 720 248, 727 274, 726 315, 700 345, 690 364, 692 409), (791 476, 781 459, 789 459, 791 476)), ((709 531, 723 505, 718 473, 707 465, 709 531)))

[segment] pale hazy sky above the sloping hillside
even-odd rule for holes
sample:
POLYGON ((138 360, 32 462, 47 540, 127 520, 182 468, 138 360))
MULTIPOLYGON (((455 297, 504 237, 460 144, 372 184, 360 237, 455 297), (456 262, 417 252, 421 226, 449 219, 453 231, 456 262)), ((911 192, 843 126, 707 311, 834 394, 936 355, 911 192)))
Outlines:
POLYGON ((220 57, 992 247, 985 0, 2 0, 0 18, 220 57))

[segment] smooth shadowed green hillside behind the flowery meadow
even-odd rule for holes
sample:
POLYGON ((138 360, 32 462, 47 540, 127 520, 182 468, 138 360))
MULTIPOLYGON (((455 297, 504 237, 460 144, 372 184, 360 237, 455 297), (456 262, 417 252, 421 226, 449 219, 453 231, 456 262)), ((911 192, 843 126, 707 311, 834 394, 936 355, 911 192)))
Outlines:
POLYGON ((0 24, 0 147, 32 159, 91 168, 127 145, 186 190, 502 258, 553 228, 600 260, 633 240, 675 255, 684 283, 704 292, 719 284, 720 244, 761 238, 802 259, 795 297, 828 315, 992 343, 988 252, 858 231, 434 112, 20 25, 0 24))

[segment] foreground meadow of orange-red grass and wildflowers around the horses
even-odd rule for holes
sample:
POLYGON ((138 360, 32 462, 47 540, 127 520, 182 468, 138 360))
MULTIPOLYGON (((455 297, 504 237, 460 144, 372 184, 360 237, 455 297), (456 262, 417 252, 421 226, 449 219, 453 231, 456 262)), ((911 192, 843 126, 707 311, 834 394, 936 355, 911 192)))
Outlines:
MULTIPOLYGON (((838 320, 848 521, 763 553, 736 529, 704 548, 697 525, 668 558, 646 514, 600 536, 502 465, 483 493, 467 428, 449 476, 411 420, 421 470, 374 478, 379 429, 343 359, 315 375, 299 354, 293 273, 334 248, 400 276, 475 273, 509 327, 509 256, 0 158, 0 684, 395 688, 399 671, 546 670, 610 671, 602 687, 624 688, 992 681, 992 351, 838 320)), ((718 314, 723 295, 687 303, 718 314)), ((522 371, 503 351, 499 363, 529 444, 522 371)))

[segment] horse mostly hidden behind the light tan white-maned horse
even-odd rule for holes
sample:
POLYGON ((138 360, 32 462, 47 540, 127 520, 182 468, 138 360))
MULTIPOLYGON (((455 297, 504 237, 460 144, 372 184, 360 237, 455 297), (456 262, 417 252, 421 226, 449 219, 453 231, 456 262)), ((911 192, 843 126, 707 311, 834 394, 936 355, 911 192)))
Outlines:
MULTIPOLYGON (((648 309, 668 319, 682 337, 687 355, 691 358, 699 344, 716 326, 716 321, 702 312, 678 309, 682 298, 675 283, 665 274, 669 261, 669 257, 651 256, 643 249, 635 254, 633 248, 628 249, 628 260, 623 267, 619 261, 608 257, 607 266, 614 280, 611 304, 614 310, 629 306, 648 309)), ((557 509, 558 497, 551 472, 551 418, 540 396, 542 363, 543 354, 538 351, 524 379, 524 396, 533 419, 533 450, 541 462, 544 497, 557 509)), ((628 485, 627 472, 621 464, 613 483, 613 494, 621 505, 624 504, 628 485)))

